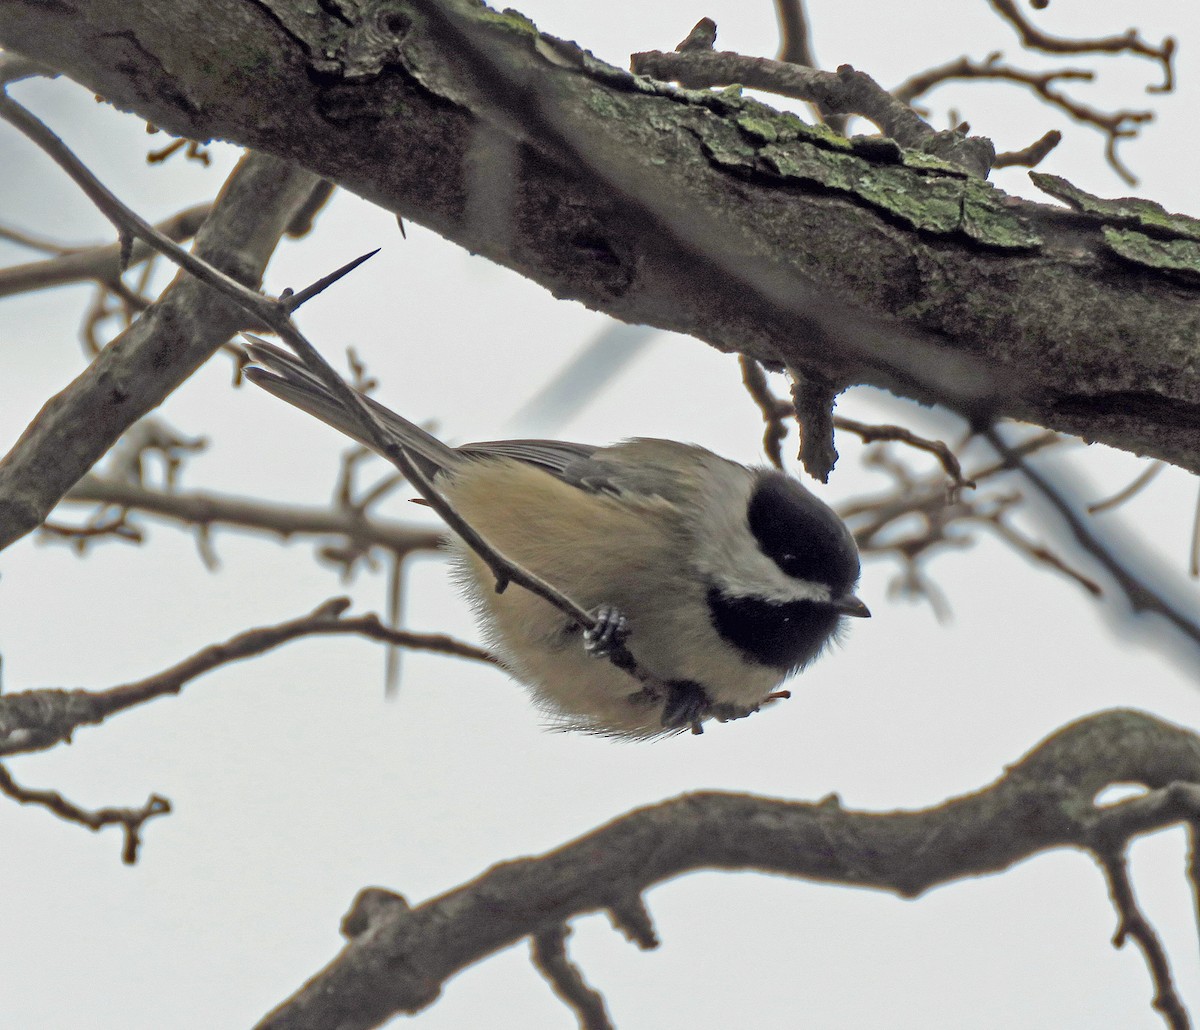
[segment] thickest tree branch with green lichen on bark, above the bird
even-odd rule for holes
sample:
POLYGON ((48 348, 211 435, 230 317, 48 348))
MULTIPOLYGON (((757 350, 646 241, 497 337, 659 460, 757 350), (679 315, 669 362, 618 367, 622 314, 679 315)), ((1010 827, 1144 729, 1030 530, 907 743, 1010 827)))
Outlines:
POLYGON ((365 0, 350 24, 288 0, 156 10, 7 5, 0 41, 618 318, 976 413, 985 397, 1200 471, 1200 306, 1174 228, 1013 202, 878 140, 635 79, 466 0, 365 0))

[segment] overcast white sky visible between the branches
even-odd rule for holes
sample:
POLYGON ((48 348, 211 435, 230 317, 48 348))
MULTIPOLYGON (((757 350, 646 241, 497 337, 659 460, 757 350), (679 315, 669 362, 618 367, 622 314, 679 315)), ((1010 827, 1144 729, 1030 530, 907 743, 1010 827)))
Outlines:
MULTIPOLYGON (((720 46, 775 47, 773 8, 523 2, 546 31, 624 65, 632 50, 670 48, 701 16, 720 46)), ((907 5, 812 0, 817 56, 883 83, 968 53, 1003 49, 1012 34, 986 4, 907 5), (902 46, 896 46, 902 40, 902 46)), ((1038 14, 1062 32, 1114 32, 1130 19, 1147 38, 1181 38, 1180 91, 1145 96, 1157 68, 1130 58, 1091 64, 1099 106, 1152 103, 1159 113, 1123 148, 1138 193, 1200 215, 1195 155, 1182 151, 1200 106, 1200 14, 1193 5, 1058 0, 1038 14)), ((1015 62, 1015 61, 1014 61, 1015 62)), ((1037 59, 1020 59, 1037 65, 1037 59)), ((146 168, 136 119, 97 106, 65 82, 14 91, 120 196, 157 218, 210 197, 236 155, 208 170, 173 161, 146 168)), ((1105 196, 1132 192, 1102 160, 1103 142, 1016 91, 985 86, 932 98, 955 107, 1000 149, 1061 127, 1044 166, 1105 196)), ((0 222, 66 240, 109 238, 103 220, 49 161, 0 130, 0 222)), ((997 181, 1032 194, 1022 172, 997 181)), ((528 397, 611 324, 576 304, 473 258, 416 226, 402 240, 386 212, 340 196, 314 238, 286 245, 268 287, 302 286, 332 264, 382 253, 324 298, 301 324, 325 353, 353 345, 382 381, 378 396, 452 441, 494 438, 528 397)), ((6 263, 28 253, 0 247, 6 263)), ((72 288, 0 305, 0 449, 82 367, 72 288)), ((343 443, 325 426, 250 389, 230 390, 217 359, 164 406, 210 448, 184 485, 322 503, 343 443)), ((936 414, 856 391, 841 411, 866 420, 940 427, 936 414)), ((557 429, 564 438, 694 441, 756 461, 758 414, 732 358, 656 334, 604 395, 557 429)), ((840 443, 840 442, 839 442, 840 443)), ((881 481, 844 459, 832 501, 881 481)), ((1128 455, 1074 448, 1069 462, 1102 497, 1136 474, 1128 455)), ((1066 459, 1064 459, 1066 460, 1066 459)), ((407 496, 407 495, 406 495, 407 496)), ((1142 538, 1183 580, 1194 478, 1169 471, 1105 526, 1142 538)), ((386 510, 421 519, 403 497, 386 510)), ((1051 523, 1028 523, 1050 539, 1051 523)), ((251 625, 300 615, 348 591, 379 610, 382 576, 344 587, 306 544, 217 534, 210 574, 191 539, 156 526, 148 544, 98 547, 80 561, 24 540, 0 556, 0 653, 7 690, 102 688, 155 672, 251 625)), ((358 640, 289 645, 223 669, 162 700, 80 731, 70 748, 11 763, 23 782, 91 804, 139 803, 151 791, 175 812, 146 830, 136 868, 115 831, 89 834, 41 810, 0 804, 0 1024, 200 1030, 254 1022, 334 957, 338 918, 355 892, 380 885, 416 903, 493 862, 536 854, 638 804, 719 788, 798 800, 836 791, 854 808, 911 808, 983 786, 1066 721, 1132 706, 1200 727, 1194 665, 1153 625, 1114 631, 1114 615, 1076 586, 988 539, 931 571, 954 617, 888 598, 894 568, 869 563, 862 597, 875 618, 793 683, 791 701, 653 744, 546 732, 503 675, 407 655, 398 700, 383 699, 383 657, 358 640)), ((1195 585, 1190 601, 1196 603, 1195 585)), ((412 568, 408 624, 478 639, 439 561, 412 568)), ((1193 653, 1194 655, 1194 653, 1193 653)), ((1181 833, 1134 851, 1136 887, 1200 1013, 1198 935, 1181 833)), ((570 947, 606 993, 622 1030, 638 1028, 1158 1028, 1140 953, 1109 944, 1115 927, 1102 878, 1082 855, 1057 852, 1007 874, 938 888, 917 902, 751 875, 694 875, 648 897, 662 947, 637 952, 599 917, 570 947)), ((566 1028, 520 946, 468 970, 416 1017, 422 1028, 566 1028)))

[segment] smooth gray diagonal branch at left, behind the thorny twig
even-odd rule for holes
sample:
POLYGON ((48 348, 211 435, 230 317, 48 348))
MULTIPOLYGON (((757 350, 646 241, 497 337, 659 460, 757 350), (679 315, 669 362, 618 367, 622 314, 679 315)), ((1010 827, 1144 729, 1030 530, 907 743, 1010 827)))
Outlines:
MULTIPOLYGON (((197 233, 196 253, 245 282, 259 282, 316 182, 289 162, 248 155, 197 233)), ((0 549, 40 525, 125 430, 162 403, 245 324, 245 312, 228 298, 190 275, 176 277, 133 325, 46 402, 0 459, 0 549)))

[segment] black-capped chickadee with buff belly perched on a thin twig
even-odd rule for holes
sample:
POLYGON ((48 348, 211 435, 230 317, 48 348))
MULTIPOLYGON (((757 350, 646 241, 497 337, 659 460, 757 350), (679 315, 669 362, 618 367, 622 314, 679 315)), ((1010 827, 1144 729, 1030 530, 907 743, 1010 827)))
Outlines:
MULTIPOLYGON (((246 370, 252 383, 371 447, 295 358, 262 342, 250 353, 265 366, 246 370)), ((854 538, 781 472, 667 439, 452 448, 366 400, 472 527, 584 609, 624 616, 629 652, 670 685, 650 697, 588 653, 581 627, 528 591, 497 593, 484 561, 452 543, 490 645, 563 729, 646 738, 749 714, 844 617, 870 615, 854 597, 854 538)))

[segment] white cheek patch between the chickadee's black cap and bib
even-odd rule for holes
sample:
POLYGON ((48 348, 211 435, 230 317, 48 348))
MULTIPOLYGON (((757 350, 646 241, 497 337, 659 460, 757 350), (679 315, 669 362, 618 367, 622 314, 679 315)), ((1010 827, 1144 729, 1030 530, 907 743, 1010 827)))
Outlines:
POLYGON ((696 514, 696 571, 732 597, 832 600, 828 586, 787 575, 760 549, 746 519, 754 472, 715 455, 707 472, 712 489, 696 514))

